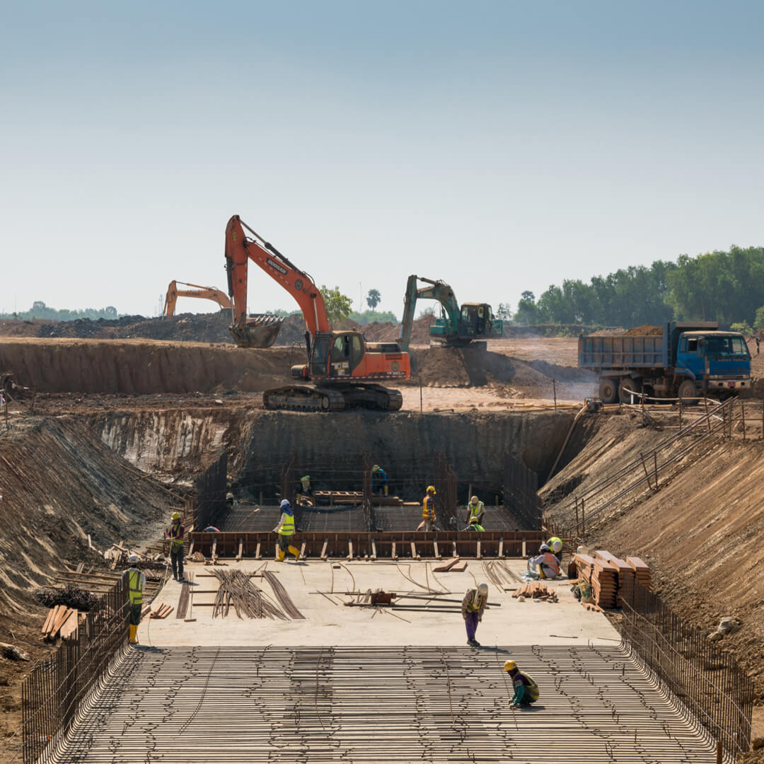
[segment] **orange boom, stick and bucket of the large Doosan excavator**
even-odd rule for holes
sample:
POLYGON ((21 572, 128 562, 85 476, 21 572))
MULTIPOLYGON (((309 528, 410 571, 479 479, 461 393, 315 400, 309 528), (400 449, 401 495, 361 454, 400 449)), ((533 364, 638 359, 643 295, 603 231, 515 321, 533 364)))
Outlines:
POLYGON ((238 215, 233 215, 225 227, 225 269, 228 271, 228 295, 231 296, 233 309, 230 331, 238 345, 267 348, 274 343, 280 326, 280 322, 275 321, 273 316, 248 319, 247 277, 250 260, 293 296, 303 311, 311 339, 319 332, 332 331, 321 290, 312 278, 257 235, 238 215), (244 234, 244 228, 251 233, 252 238, 244 234))

